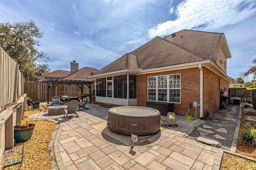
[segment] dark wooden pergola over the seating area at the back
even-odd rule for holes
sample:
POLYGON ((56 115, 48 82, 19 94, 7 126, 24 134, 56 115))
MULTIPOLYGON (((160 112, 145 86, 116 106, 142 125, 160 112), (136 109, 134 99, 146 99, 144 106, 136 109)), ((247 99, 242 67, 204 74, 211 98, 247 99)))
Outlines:
POLYGON ((50 102, 50 88, 52 88, 52 96, 54 96, 54 89, 58 84, 76 84, 80 89, 81 89, 81 94, 83 94, 83 86, 86 85, 89 88, 89 98, 90 98, 90 103, 92 103, 92 92, 91 92, 91 87, 94 82, 89 82, 88 80, 76 80, 76 79, 51 79, 51 80, 46 80, 44 81, 47 83, 47 103, 49 104, 50 102))

